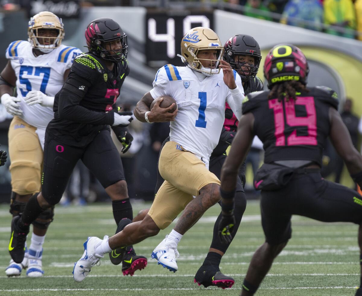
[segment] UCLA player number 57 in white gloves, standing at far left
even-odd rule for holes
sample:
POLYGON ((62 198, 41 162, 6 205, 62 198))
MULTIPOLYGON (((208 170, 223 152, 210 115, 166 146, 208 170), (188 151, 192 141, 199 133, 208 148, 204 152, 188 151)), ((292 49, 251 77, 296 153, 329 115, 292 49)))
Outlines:
MULTIPOLYGON (((54 96, 62 88, 74 57, 81 54, 78 48, 62 44, 63 22, 54 13, 43 11, 30 18, 28 36, 28 41, 10 43, 5 53, 8 63, 0 77, 1 103, 14 115, 9 127, 13 216, 20 215, 30 196, 40 190, 45 129, 54 118, 54 96)), ((54 208, 49 208, 33 221, 26 256, 21 262, 10 261, 5 270, 8 276, 18 276, 26 267, 30 277, 43 275, 43 243, 53 217, 54 208)))

